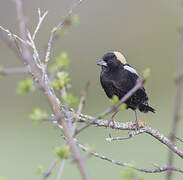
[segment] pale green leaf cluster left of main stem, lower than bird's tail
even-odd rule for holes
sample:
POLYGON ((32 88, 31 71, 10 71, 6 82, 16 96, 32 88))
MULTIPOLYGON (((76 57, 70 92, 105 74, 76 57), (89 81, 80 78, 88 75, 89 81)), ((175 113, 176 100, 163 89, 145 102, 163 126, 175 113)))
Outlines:
POLYGON ((34 109, 33 113, 30 114, 29 117, 34 121, 35 125, 40 125, 43 122, 43 120, 48 118, 48 114, 45 111, 36 108, 34 109))

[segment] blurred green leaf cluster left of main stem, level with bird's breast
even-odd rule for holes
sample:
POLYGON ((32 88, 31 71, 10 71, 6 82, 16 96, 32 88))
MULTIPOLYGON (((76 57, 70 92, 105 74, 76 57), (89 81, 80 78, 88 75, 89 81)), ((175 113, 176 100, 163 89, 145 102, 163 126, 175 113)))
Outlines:
POLYGON ((17 87, 17 93, 18 94, 32 92, 34 90, 35 90, 35 87, 33 85, 33 80, 32 79, 26 79, 26 80, 20 81, 18 83, 18 87, 17 87))

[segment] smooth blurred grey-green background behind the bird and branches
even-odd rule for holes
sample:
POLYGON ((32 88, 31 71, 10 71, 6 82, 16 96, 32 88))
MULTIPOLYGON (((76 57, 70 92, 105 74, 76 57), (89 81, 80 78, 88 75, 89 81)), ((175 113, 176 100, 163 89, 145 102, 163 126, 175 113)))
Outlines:
MULTIPOLYGON (((37 24, 37 8, 48 10, 49 14, 38 33, 36 44, 41 49, 48 42, 49 31, 63 19, 73 3, 70 0, 24 0, 24 12, 28 27, 32 32, 37 24)), ((168 135, 172 120, 174 77, 178 54, 181 19, 180 1, 171 0, 85 0, 77 9, 79 24, 69 28, 52 49, 52 57, 66 51, 71 58, 70 76, 72 92, 80 95, 87 80, 91 81, 84 113, 97 115, 110 102, 100 83, 100 68, 96 61, 111 50, 123 52, 131 64, 141 74, 151 68, 151 76, 145 87, 150 104, 156 114, 138 113, 139 119, 168 135)), ((183 10, 182 10, 183 11, 183 10)), ((18 33, 18 21, 12 1, 1 0, 0 24, 18 33)), ((0 65, 22 66, 17 57, 0 41, 0 65)), ((52 58, 53 61, 53 58, 52 58)), ((37 166, 45 168, 55 158, 53 149, 63 144, 60 132, 52 124, 34 126, 28 115, 35 107, 50 113, 48 101, 42 92, 17 95, 16 87, 27 75, 0 77, 0 176, 7 180, 40 179, 35 174, 37 166)), ((183 112, 183 111, 181 111, 183 112)), ((109 117, 108 117, 109 118, 109 117)), ((132 111, 120 112, 119 121, 133 121, 132 111)), ((183 122, 179 123, 179 135, 183 137, 183 122)), ((127 132, 114 132, 113 136, 125 136, 127 132)), ((147 134, 127 141, 108 143, 107 130, 90 127, 79 140, 83 144, 94 144, 96 151, 122 162, 132 162, 138 167, 152 168, 151 163, 164 165, 167 162, 167 148, 147 134)), ((183 148, 181 143, 178 143, 183 148)), ((183 168, 183 161, 176 157, 176 167, 183 168)), ((59 167, 59 166, 57 166, 59 167)), ((122 167, 95 157, 87 160, 87 169, 92 179, 120 180, 122 167)), ((147 180, 165 179, 165 173, 138 173, 147 180)), ((50 179, 55 179, 57 169, 50 179)), ((183 175, 176 173, 174 180, 183 175)), ((73 163, 66 163, 63 179, 81 179, 73 163)))

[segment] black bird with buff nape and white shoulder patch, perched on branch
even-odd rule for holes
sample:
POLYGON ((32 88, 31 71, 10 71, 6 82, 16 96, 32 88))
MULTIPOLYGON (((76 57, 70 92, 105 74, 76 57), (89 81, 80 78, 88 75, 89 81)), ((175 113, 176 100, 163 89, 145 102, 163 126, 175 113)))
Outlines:
MULTIPOLYGON (((136 70, 127 64, 125 57, 120 52, 106 53, 102 59, 97 62, 97 65, 102 68, 100 82, 109 98, 116 95, 121 99, 136 85, 139 78, 136 70)), ((136 125, 138 125, 136 109, 144 113, 149 111, 155 112, 148 104, 148 97, 144 87, 138 89, 125 103, 127 108, 135 111, 136 125)), ((113 122, 113 118, 116 114, 117 112, 115 112, 111 118, 113 122)))

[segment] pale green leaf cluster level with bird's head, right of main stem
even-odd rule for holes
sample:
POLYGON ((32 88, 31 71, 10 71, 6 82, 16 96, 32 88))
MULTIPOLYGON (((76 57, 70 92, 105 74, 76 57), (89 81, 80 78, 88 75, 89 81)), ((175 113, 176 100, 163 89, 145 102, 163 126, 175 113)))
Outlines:
POLYGON ((61 67, 67 69, 70 63, 70 59, 65 51, 61 52, 59 56, 55 58, 55 63, 50 66, 49 71, 53 72, 57 68, 61 67))

